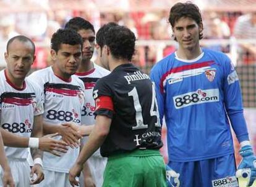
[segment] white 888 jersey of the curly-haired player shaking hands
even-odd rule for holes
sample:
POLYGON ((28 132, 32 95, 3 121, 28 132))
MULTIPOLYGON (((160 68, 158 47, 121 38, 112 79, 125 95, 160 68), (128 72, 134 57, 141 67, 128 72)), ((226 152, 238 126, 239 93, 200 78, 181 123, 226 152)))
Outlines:
MULTIPOLYGON (((59 78, 52 67, 38 70, 29 76, 44 90, 45 113, 43 119, 52 125, 73 122, 80 125, 81 112, 85 100, 83 82, 75 76, 67 81, 59 78)), ((60 140, 61 136, 55 139, 60 140)), ((61 157, 50 153, 43 154, 43 167, 56 172, 69 172, 79 155, 79 148, 69 148, 61 157)))

